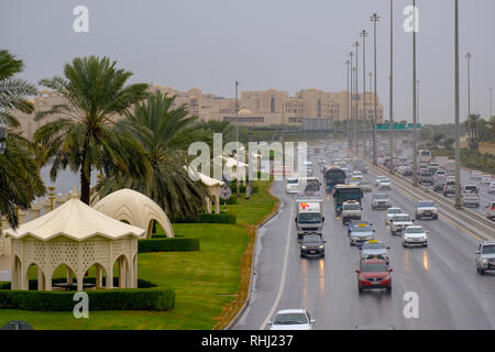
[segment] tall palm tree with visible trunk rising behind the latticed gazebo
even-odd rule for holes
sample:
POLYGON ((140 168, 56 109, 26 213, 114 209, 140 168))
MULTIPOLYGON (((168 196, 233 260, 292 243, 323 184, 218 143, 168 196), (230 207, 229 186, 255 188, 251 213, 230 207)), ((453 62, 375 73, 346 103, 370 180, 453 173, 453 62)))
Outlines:
POLYGON ((59 92, 66 103, 38 112, 36 119, 58 116, 34 134, 54 157, 53 180, 67 166, 80 172, 80 199, 89 204, 92 169, 118 168, 131 177, 144 177, 144 152, 130 134, 114 133, 118 116, 146 97, 146 84, 125 86, 131 72, 118 69, 108 57, 77 57, 64 67, 65 77, 40 81, 59 92))

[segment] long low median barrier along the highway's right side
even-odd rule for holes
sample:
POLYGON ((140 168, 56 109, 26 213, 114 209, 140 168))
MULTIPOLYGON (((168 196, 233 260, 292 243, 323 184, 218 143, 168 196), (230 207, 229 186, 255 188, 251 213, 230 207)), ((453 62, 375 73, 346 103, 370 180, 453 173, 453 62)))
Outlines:
POLYGON ((464 226, 464 223, 459 221, 462 220, 468 224, 470 224, 471 227, 473 227, 474 229, 476 229, 479 231, 477 234, 481 238, 484 238, 486 240, 495 239, 495 224, 491 220, 485 219, 482 216, 465 208, 457 209, 454 208, 454 202, 452 200, 436 194, 429 188, 424 186, 414 187, 410 179, 403 177, 400 175, 395 174, 391 175, 388 168, 385 168, 383 166, 375 166, 369 162, 366 163, 369 164, 370 168, 374 169, 375 172, 386 173, 386 175, 391 179, 395 180, 396 185, 398 185, 399 187, 402 186, 400 188, 403 188, 403 190, 408 193, 410 196, 417 198, 419 198, 418 196, 420 196, 424 199, 436 200, 437 205, 440 208, 442 208, 443 210, 448 210, 447 212, 442 212, 442 215, 448 217, 452 221, 457 222, 458 224, 464 226))

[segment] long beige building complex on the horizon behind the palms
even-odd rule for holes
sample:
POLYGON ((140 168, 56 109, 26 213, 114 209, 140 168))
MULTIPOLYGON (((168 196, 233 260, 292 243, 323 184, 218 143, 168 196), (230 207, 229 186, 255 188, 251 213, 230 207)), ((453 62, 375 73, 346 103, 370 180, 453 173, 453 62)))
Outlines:
MULTIPOLYGON (((186 105, 190 114, 198 116, 201 120, 235 121, 235 99, 218 97, 215 94, 204 94, 199 88, 179 91, 168 86, 153 85, 150 90, 160 90, 169 96, 175 96, 175 107, 186 105)), ((363 95, 359 100, 359 119, 365 116, 373 118, 373 94, 366 94, 364 107, 363 95), (365 111, 367 110, 367 111, 365 111)), ((288 91, 267 89, 256 91, 242 91, 239 98, 238 119, 240 123, 252 125, 271 124, 299 124, 304 118, 332 118, 334 121, 346 120, 350 95, 343 90, 328 92, 316 88, 302 89, 289 96, 288 91)), ((64 98, 50 90, 41 90, 32 100, 36 111, 47 110, 55 105, 64 102, 64 98)), ((355 108, 354 108, 355 111, 355 108)), ((355 113, 355 112, 354 112, 355 113)), ((383 122, 384 108, 377 99, 377 123, 383 122)), ((34 114, 28 116, 16 112, 21 128, 25 136, 33 138, 36 129, 53 118, 34 121, 34 114)))

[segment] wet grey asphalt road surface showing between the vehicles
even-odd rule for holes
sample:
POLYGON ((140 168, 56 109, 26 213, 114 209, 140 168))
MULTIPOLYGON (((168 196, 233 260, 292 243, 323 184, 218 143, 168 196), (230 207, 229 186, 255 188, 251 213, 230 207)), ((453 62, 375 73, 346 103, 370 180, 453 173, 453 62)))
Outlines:
MULTIPOLYGON (((316 157, 310 157, 316 163, 316 157)), ((317 167, 316 167, 317 168, 317 167)), ((317 168, 319 169, 319 168, 317 168)), ((376 174, 365 179, 373 182, 376 174)), ((384 223, 385 211, 371 209, 371 194, 363 199, 363 220, 373 222, 376 239, 392 249, 392 294, 385 290, 359 294, 356 248, 349 244, 345 228, 336 218, 333 199, 324 200, 327 241, 324 258, 301 258, 294 217, 295 195, 285 193, 285 182, 274 184, 280 212, 263 229, 256 249, 252 300, 234 329, 266 329, 279 309, 305 308, 315 329, 354 329, 362 324, 394 324, 397 329, 495 329, 495 274, 480 275, 475 251, 480 238, 440 215, 439 220, 419 220, 430 231, 428 248, 404 249, 384 223), (406 293, 418 295, 419 318, 406 318, 406 293)), ((394 188, 394 207, 414 215, 417 199, 394 188)))

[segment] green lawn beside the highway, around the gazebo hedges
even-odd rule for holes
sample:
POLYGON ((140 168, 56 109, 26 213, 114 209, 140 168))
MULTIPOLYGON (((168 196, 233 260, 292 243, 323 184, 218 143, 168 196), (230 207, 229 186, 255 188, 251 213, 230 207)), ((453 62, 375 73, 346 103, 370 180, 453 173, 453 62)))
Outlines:
MULTIPOLYGON (((239 266, 249 235, 245 227, 263 219, 275 207, 266 193, 268 182, 250 200, 238 199, 227 211, 238 216, 237 224, 176 223, 177 235, 200 239, 199 252, 143 253, 139 277, 176 292, 172 311, 97 311, 89 319, 72 312, 0 310, 0 326, 9 320, 30 322, 35 329, 211 329, 222 308, 235 299, 239 266)), ((222 208, 223 210, 223 208, 222 208)), ((61 273, 63 276, 63 273, 61 273)), ((91 305, 91 302, 89 302, 91 305)))

